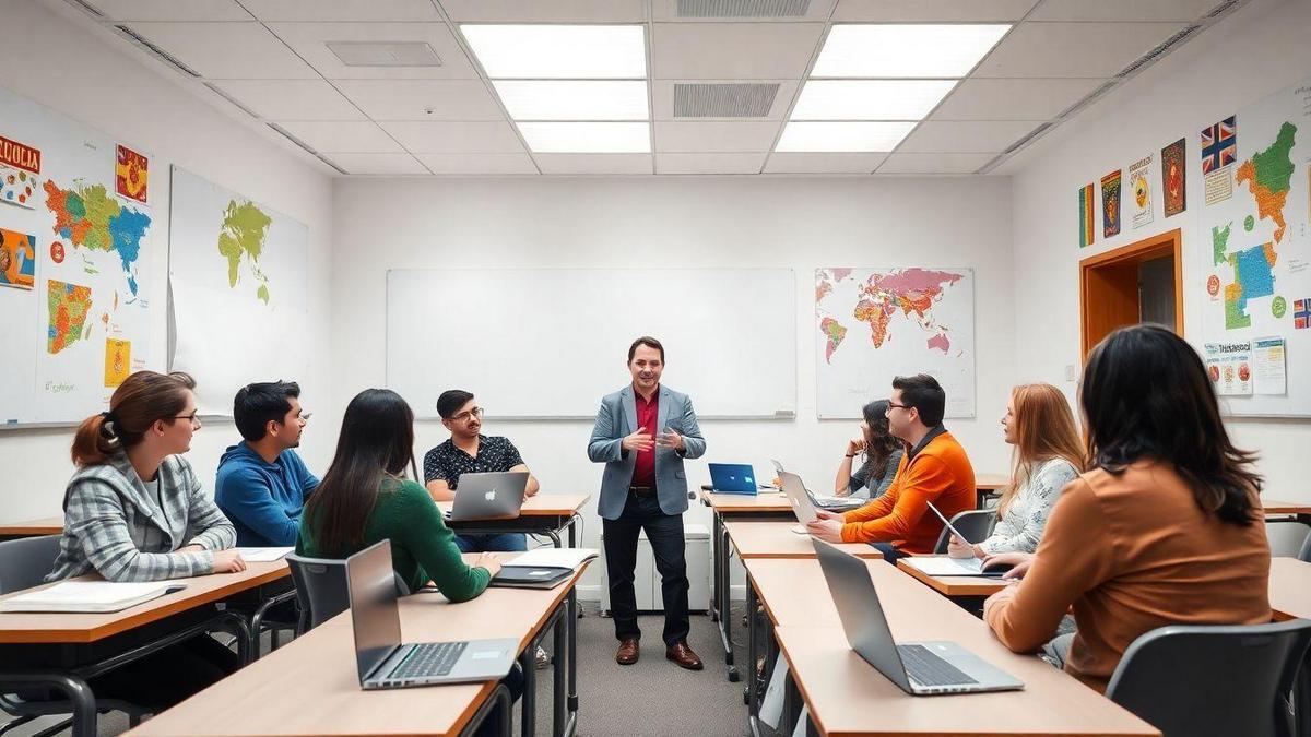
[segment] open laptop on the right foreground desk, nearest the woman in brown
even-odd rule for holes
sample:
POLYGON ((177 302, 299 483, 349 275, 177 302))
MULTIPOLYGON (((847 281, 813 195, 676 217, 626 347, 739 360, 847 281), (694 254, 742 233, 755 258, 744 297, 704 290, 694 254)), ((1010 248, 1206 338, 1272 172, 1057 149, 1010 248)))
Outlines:
POLYGON ((1024 683, 956 643, 895 643, 865 561, 812 538, 851 649, 915 696, 1015 691, 1024 683))

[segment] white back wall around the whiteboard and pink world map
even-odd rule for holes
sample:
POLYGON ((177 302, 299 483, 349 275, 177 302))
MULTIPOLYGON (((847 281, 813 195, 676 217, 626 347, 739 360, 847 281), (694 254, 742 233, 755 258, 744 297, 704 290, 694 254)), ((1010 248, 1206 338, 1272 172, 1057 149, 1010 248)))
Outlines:
MULTIPOLYGON (((1008 467, 998 425, 1015 374, 1006 178, 343 180, 334 203, 333 330, 342 336, 333 353, 337 407, 366 387, 385 383, 382 327, 388 269, 792 268, 797 274, 797 418, 705 421, 705 460, 749 462, 764 472, 768 458, 777 456, 796 466, 812 487, 825 488, 832 483, 846 439, 859 430, 855 421, 815 420, 813 270, 964 265, 977 269, 978 418, 952 420, 948 426, 975 469, 1004 472, 1008 467)), ((658 295, 638 289, 633 298, 658 295)), ((597 319, 604 320, 623 306, 594 308, 597 319)), ((477 306, 469 306, 468 319, 477 320, 477 306)), ((489 327, 493 334, 494 329, 489 327)), ((708 328, 707 340, 711 333, 708 328)), ((743 341, 743 371, 773 359, 770 346, 754 344, 750 336, 713 340, 743 341)), ((615 346, 614 380, 594 388, 598 403, 629 380, 627 349, 627 344, 615 346)), ((679 366, 697 357, 667 358, 665 382, 678 388, 679 366)), ((568 355, 524 355, 506 370, 551 391, 552 375, 568 367, 568 355)), ((440 384, 442 376, 433 380, 440 384)), ((497 405, 494 396, 479 400, 497 405)), ((421 422, 417 431, 420 452, 447 437, 439 422, 421 422)), ((540 476, 543 493, 595 494, 600 467, 586 456, 590 421, 493 421, 485 431, 514 439, 540 476)), ((694 489, 709 481, 705 460, 690 464, 694 489)), ((595 498, 586 519, 587 543, 597 544, 595 498)), ((687 521, 709 525, 700 508, 687 521)))

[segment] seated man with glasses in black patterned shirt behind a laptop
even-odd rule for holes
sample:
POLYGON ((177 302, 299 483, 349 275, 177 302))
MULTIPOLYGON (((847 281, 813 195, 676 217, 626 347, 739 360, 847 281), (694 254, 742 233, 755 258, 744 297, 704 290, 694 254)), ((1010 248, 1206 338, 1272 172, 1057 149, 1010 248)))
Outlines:
MULTIPOLYGON (((454 500, 461 473, 528 469, 519 455, 519 448, 509 439, 479 434, 482 429, 482 408, 473 400, 472 393, 463 389, 442 392, 442 396, 437 397, 437 413, 442 416, 442 425, 451 431, 451 438, 423 456, 423 481, 434 500, 454 500)), ((538 493, 538 479, 530 473, 524 494, 531 497, 538 493)), ((523 532, 456 535, 455 544, 463 552, 528 549, 523 532)))

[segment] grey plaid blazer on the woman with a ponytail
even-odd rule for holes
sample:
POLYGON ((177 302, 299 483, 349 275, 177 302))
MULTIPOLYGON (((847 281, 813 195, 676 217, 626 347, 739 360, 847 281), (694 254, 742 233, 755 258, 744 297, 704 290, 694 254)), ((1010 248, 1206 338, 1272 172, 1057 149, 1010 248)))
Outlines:
POLYGON ((170 455, 160 466, 163 508, 146 492, 126 454, 77 471, 64 493, 64 536, 46 581, 92 570, 109 581, 160 581, 214 573, 214 551, 231 548, 237 534, 205 496, 191 464, 170 455), (149 528, 163 535, 147 535, 149 528), (153 544, 148 544, 147 539, 153 544), (202 551, 173 551, 195 544, 202 551), (152 549, 147 549, 147 548, 152 549))

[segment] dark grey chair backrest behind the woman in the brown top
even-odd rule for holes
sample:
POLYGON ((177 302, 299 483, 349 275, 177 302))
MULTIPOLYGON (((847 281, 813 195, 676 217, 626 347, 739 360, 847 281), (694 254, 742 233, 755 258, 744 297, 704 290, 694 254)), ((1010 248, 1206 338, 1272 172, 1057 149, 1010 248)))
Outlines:
POLYGON ((1311 620, 1169 626, 1129 645, 1106 696, 1164 737, 1287 737, 1286 694, 1311 644, 1311 620))

